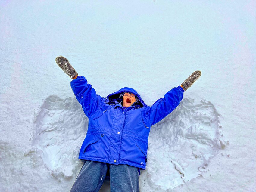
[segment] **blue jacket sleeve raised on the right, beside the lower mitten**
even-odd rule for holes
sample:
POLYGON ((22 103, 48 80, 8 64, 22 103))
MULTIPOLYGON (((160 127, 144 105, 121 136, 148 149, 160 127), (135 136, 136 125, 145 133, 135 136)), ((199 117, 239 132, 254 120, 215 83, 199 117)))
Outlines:
POLYGON ((158 99, 149 110, 149 119, 151 126, 158 123, 168 114, 170 114, 183 99, 183 93, 185 90, 181 87, 175 87, 164 94, 163 98, 158 99))

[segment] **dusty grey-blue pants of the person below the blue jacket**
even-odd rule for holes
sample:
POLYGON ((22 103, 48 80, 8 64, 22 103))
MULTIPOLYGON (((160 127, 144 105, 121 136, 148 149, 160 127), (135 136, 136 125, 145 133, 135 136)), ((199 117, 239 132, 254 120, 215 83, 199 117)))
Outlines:
POLYGON ((111 192, 139 191, 137 167, 85 160, 70 192, 98 192, 106 176, 111 192))

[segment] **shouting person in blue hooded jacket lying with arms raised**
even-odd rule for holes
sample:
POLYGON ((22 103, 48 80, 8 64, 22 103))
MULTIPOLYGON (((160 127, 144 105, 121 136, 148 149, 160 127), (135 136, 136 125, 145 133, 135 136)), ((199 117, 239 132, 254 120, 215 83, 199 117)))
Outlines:
POLYGON ((110 177, 111 192, 139 191, 140 170, 146 169, 150 127, 180 104, 183 93, 201 76, 201 71, 192 73, 150 107, 129 87, 101 97, 66 58, 58 56, 56 63, 73 79, 70 86, 89 118, 78 157, 84 163, 70 191, 99 191, 106 177, 110 177))

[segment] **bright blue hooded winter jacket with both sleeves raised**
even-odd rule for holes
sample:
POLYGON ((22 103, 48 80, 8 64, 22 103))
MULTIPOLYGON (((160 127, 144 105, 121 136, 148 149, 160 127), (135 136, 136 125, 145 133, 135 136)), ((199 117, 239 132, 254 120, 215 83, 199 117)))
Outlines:
POLYGON ((79 159, 126 164, 138 170, 146 169, 150 127, 180 104, 184 92, 181 86, 175 87, 150 107, 137 91, 129 87, 103 98, 96 94, 84 76, 77 76, 70 85, 89 118, 79 159), (123 109, 123 92, 134 93, 138 101, 123 109))

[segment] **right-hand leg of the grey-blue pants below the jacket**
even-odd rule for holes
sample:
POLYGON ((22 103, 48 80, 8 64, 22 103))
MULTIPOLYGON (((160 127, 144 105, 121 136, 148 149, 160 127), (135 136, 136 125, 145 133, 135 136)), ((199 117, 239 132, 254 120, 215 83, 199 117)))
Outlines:
POLYGON ((139 192, 139 176, 137 167, 130 165, 110 165, 111 192, 139 192))

